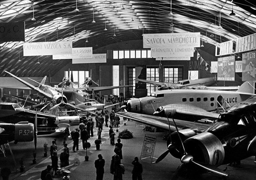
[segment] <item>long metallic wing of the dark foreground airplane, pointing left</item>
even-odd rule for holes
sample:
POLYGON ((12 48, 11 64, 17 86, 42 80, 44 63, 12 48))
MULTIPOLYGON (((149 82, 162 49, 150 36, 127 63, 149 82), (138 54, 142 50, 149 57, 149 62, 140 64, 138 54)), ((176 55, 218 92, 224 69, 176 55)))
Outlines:
MULTIPOLYGON (((136 122, 143 123, 145 125, 154 126, 156 128, 161 128, 166 131, 169 131, 168 120, 164 117, 151 116, 140 113, 131 113, 131 112, 118 112, 116 113, 118 116, 125 117, 127 119, 134 120, 136 122)), ((171 118, 169 118, 170 129, 172 132, 176 131, 174 122, 171 118)), ((192 129, 197 133, 204 132, 207 130, 211 124, 203 124, 199 122, 188 122, 175 119, 175 123, 179 130, 181 129, 192 129)))

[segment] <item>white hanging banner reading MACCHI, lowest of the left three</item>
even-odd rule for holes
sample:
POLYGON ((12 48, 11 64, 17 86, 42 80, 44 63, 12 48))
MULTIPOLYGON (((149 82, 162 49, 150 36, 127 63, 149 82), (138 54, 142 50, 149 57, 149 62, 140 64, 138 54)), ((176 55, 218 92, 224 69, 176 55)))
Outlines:
POLYGON ((107 62, 107 54, 93 54, 93 58, 72 59, 72 64, 106 63, 106 62, 107 62))

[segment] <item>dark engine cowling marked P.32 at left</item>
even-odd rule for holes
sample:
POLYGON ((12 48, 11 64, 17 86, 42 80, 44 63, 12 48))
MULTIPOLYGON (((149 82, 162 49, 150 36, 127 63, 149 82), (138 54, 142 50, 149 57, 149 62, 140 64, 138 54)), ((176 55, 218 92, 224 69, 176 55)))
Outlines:
POLYGON ((15 124, 15 141, 29 142, 34 140, 34 124, 19 122, 15 124))

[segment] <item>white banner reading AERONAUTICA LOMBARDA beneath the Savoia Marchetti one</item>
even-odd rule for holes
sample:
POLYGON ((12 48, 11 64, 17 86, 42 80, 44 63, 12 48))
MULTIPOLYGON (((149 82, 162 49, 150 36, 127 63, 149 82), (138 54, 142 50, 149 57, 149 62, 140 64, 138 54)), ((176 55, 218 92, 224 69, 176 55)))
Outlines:
MULTIPOLYGON (((194 56, 194 47, 163 47, 163 48, 151 48, 151 57, 182 57, 194 56)), ((190 58, 189 58, 190 59, 190 58)))

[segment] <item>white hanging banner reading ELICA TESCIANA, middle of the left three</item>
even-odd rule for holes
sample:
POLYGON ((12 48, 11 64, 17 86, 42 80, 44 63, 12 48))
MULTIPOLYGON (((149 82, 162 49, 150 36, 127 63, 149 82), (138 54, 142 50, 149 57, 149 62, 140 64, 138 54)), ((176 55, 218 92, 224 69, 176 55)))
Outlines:
POLYGON ((72 48, 71 54, 52 55, 52 59, 93 58, 93 47, 72 48))

